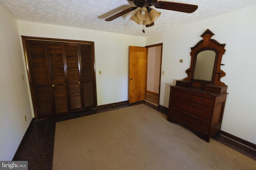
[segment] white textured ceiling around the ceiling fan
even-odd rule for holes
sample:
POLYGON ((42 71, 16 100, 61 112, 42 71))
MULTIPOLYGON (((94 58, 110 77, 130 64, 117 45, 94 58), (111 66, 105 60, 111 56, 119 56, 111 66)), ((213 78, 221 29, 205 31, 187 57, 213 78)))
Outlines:
POLYGON ((256 4, 256 0, 165 0, 198 5, 192 14, 156 9, 161 12, 155 25, 146 28, 130 18, 138 11, 130 12, 116 20, 107 22, 105 18, 134 6, 127 0, 0 0, 17 20, 64 25, 99 31, 147 36, 188 25, 196 21, 218 16, 256 4))

